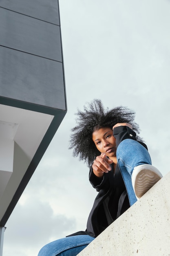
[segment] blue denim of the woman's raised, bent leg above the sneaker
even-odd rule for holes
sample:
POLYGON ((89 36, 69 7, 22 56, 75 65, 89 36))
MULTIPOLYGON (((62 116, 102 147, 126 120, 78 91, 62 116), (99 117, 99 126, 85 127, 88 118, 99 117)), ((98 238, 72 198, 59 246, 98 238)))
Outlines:
POLYGON ((117 147, 116 157, 131 206, 137 201, 131 180, 133 169, 140 164, 152 164, 150 155, 139 142, 133 139, 124 139, 117 147))

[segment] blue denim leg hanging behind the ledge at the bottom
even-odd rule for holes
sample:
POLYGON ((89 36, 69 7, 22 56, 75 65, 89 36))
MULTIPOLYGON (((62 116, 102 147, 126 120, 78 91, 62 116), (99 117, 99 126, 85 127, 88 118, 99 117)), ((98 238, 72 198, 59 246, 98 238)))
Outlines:
POLYGON ((61 238, 42 247, 38 256, 76 256, 94 239, 88 235, 61 238))

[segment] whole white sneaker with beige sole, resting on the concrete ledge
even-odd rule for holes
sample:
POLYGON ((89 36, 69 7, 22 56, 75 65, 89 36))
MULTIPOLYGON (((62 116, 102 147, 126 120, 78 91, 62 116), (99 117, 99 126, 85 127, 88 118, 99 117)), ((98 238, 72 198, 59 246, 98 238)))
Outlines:
POLYGON ((141 198, 162 177, 160 171, 150 164, 136 166, 132 172, 132 186, 137 199, 141 198))

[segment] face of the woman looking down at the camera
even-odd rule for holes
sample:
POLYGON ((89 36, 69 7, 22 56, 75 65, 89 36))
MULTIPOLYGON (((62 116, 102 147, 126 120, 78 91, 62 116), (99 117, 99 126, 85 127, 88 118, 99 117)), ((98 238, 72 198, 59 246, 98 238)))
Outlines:
POLYGON ((100 128, 93 132, 92 139, 101 153, 105 153, 107 157, 116 156, 116 139, 112 129, 100 128))

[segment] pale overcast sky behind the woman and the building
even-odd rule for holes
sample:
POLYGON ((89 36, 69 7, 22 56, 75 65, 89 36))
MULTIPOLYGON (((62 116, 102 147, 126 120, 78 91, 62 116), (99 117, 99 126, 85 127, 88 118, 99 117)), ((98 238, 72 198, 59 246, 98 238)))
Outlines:
POLYGON ((36 256, 52 240, 86 229, 97 192, 68 150, 77 108, 136 112, 163 176, 170 155, 170 1, 60 0, 68 112, 11 214, 3 256, 36 256))

